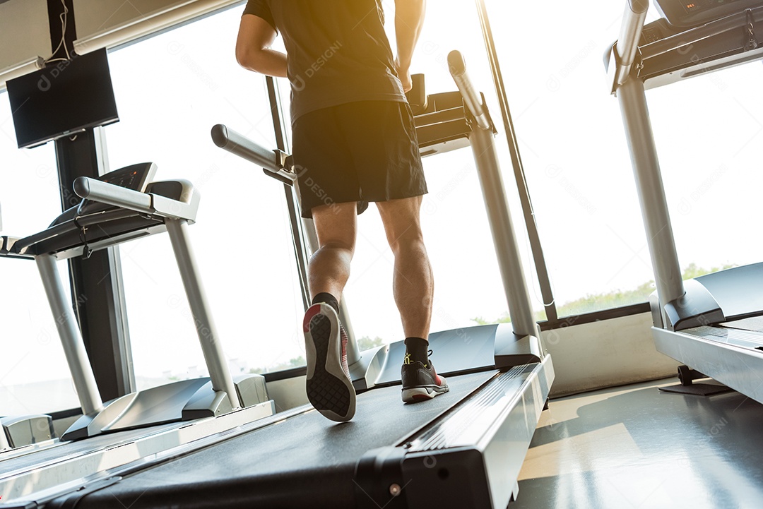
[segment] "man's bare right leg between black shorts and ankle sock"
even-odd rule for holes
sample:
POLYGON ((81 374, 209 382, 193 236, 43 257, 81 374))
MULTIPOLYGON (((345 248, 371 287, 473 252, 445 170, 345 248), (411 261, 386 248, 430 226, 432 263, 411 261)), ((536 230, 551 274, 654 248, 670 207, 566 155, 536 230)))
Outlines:
POLYGON ((420 224, 422 197, 377 202, 394 254, 392 291, 406 338, 429 338, 434 280, 420 224))

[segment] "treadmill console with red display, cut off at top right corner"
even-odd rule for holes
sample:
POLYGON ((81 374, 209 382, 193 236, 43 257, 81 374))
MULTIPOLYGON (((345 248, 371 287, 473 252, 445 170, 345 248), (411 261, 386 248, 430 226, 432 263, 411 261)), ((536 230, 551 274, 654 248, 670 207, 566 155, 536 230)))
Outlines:
POLYGON ((709 21, 763 6, 761 0, 655 0, 657 10, 674 27, 697 27, 709 21))

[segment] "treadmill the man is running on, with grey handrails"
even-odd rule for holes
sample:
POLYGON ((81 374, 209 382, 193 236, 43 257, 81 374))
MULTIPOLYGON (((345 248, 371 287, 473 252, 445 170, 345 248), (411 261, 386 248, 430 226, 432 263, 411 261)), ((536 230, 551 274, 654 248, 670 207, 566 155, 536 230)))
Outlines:
MULTIPOLYGON (((422 135, 446 136, 420 136, 420 147, 435 153, 472 146, 512 319, 430 335, 450 391, 404 405, 404 344, 378 347, 353 363, 359 394, 352 421, 332 423, 303 405, 176 447, 169 456, 92 475, 76 491, 19 499, 18 507, 499 508, 517 496, 520 467, 554 373, 531 313, 493 123, 460 54, 452 53, 450 63, 460 91, 430 96, 416 120, 422 135)), ((285 152, 222 125, 214 126, 212 137, 266 174, 294 183, 285 152)))

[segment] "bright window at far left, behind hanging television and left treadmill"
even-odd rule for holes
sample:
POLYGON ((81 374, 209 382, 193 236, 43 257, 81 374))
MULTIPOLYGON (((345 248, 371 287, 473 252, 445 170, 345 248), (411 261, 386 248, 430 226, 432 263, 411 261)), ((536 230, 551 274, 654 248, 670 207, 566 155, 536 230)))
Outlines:
MULTIPOLYGON (((53 143, 18 149, 8 95, 0 93, 0 235, 25 237, 61 213, 53 143)), ((58 264, 62 277, 69 271, 58 264)), ((63 287, 68 292, 69 283, 63 287)), ((34 261, 0 258, 0 415, 79 406, 34 261)))

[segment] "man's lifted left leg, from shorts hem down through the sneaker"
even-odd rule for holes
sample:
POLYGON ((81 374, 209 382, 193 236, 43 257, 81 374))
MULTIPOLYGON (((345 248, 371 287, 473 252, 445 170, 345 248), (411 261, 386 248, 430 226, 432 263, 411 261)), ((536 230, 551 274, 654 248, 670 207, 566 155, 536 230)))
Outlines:
POLYGON ((312 306, 304 315, 307 399, 333 421, 355 415, 355 389, 347 368, 347 336, 339 322, 339 301, 349 277, 356 237, 356 203, 312 209, 318 249, 307 264, 312 306))

